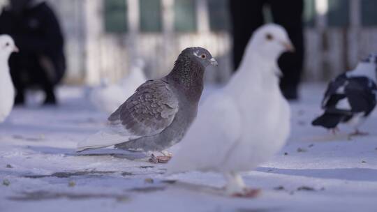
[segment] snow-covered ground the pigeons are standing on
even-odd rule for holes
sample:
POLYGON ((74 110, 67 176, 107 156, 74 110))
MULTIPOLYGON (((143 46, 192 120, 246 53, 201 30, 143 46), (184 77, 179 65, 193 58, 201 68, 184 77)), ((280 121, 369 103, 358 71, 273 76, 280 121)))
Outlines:
MULTIPOLYGON (((204 94, 214 91, 210 89, 204 94)), ((262 190, 255 199, 200 192, 221 188, 219 174, 165 176, 165 165, 140 154, 99 150, 77 155, 78 141, 96 132, 106 116, 63 87, 61 105, 17 107, 0 124, 0 211, 376 211, 377 112, 364 124, 367 137, 332 137, 310 125, 320 113, 324 86, 306 84, 292 105, 292 134, 274 160, 244 173, 262 190)), ((231 124, 231 123, 230 123, 231 124)), ((174 150, 173 150, 174 151, 174 150)))

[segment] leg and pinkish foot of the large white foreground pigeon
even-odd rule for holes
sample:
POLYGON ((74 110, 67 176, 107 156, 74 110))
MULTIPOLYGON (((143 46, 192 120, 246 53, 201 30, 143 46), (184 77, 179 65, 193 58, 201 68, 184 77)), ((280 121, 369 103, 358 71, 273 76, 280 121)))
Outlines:
POLYGON ((232 197, 253 198, 260 192, 258 189, 246 188, 242 176, 235 172, 226 173, 224 176, 226 181, 228 181, 226 185, 226 193, 232 197))

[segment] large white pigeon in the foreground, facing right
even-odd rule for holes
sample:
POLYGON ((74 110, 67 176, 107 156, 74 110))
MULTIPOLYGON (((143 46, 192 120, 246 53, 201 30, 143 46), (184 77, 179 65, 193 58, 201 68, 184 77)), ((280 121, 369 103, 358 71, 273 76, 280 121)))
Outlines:
POLYGON ((240 172, 266 162, 285 144, 290 107, 279 89, 277 59, 293 50, 285 29, 266 24, 253 33, 239 69, 199 108, 198 118, 168 164, 168 174, 224 174, 229 195, 251 195, 240 172))

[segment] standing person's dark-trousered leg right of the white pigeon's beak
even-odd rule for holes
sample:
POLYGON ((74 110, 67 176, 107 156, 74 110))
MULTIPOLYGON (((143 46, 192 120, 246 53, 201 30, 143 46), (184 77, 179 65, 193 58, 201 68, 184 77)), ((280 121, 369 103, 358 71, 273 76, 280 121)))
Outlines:
POLYGON ((304 62, 304 35, 302 26, 303 0, 269 0, 272 16, 276 24, 283 26, 293 45, 295 52, 286 52, 279 58, 279 67, 283 72, 281 91, 289 100, 298 98, 297 89, 304 62))

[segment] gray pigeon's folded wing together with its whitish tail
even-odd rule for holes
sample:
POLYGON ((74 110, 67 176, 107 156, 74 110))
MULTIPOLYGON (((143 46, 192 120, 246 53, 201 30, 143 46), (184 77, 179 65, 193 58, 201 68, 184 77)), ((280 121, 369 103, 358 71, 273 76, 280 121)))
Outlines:
POLYGON ((98 149, 156 135, 172 123, 178 100, 169 84, 149 80, 108 118, 108 126, 78 145, 77 151, 98 149))

